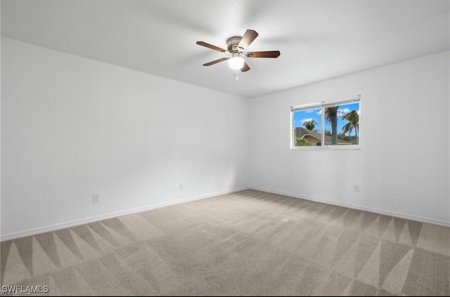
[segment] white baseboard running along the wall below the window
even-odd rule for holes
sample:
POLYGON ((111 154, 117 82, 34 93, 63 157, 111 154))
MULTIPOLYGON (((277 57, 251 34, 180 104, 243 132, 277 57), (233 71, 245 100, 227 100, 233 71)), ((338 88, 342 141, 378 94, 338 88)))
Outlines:
POLYGON ((379 213, 379 214, 383 214, 386 216, 394 216, 397 218, 405 218, 407 220, 417 220, 417 221, 423 222, 423 223, 430 223, 430 224, 450 227, 450 221, 436 220, 434 218, 424 218, 421 216, 410 215, 408 213, 399 213, 396 211, 387 211, 384 209, 373 209, 371 207, 366 207, 366 206, 361 206, 361 205, 334 202, 334 201, 330 201, 330 200, 326 200, 326 199, 317 199, 317 198, 306 197, 303 195, 294 194, 294 193, 290 193, 290 192, 282 192, 282 191, 277 191, 277 190, 265 189, 262 187, 249 187, 249 189, 258 190, 258 191, 262 191, 262 192, 269 192, 269 193, 273 193, 273 194, 281 194, 281 195, 300 198, 300 199, 307 199, 307 200, 314 201, 314 202, 322 202, 322 203, 332 204, 332 205, 336 205, 336 206, 343 206, 343 207, 348 207, 349 209, 358 209, 360 211, 370 211, 372 213, 379 213))

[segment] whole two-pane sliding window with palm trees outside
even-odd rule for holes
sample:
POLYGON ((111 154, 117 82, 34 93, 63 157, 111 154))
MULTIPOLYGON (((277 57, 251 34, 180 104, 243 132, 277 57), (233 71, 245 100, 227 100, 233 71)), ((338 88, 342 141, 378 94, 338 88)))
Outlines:
POLYGON ((291 148, 359 145, 359 98, 292 107, 291 148))

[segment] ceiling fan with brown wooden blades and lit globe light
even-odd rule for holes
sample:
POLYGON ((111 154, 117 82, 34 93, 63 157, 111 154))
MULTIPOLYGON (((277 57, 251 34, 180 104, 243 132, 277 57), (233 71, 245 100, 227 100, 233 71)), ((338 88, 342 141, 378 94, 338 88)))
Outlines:
POLYGON ((221 53, 226 53, 229 56, 220 58, 211 62, 207 62, 203 64, 203 66, 211 66, 217 64, 218 62, 223 62, 228 60, 229 67, 233 70, 240 70, 242 72, 246 72, 250 70, 247 62, 245 62, 243 57, 247 58, 278 58, 280 55, 280 51, 252 51, 245 52, 250 46, 250 44, 258 37, 258 33, 255 30, 248 29, 245 31, 243 37, 234 36, 226 39, 226 44, 228 50, 224 48, 219 48, 218 46, 213 46, 212 44, 207 44, 203 41, 197 41, 199 46, 205 46, 207 48, 211 48, 214 51, 220 51, 221 53))

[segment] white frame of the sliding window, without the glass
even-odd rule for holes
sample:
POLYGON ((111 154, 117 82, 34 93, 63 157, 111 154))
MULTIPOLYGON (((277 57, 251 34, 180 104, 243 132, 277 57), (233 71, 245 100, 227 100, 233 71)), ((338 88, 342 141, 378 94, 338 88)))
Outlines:
MULTIPOLYGON (((325 115, 326 107, 333 107, 347 103, 359 103, 359 112, 361 113, 361 95, 353 95, 335 100, 321 101, 320 103, 311 103, 306 105, 298 105, 290 107, 290 150, 361 150, 361 135, 357 145, 324 145, 325 143, 325 115), (321 108, 321 145, 317 146, 295 146, 295 128, 294 113, 297 110, 309 110, 321 108)), ((359 131, 361 131, 361 122, 359 123, 359 131)))

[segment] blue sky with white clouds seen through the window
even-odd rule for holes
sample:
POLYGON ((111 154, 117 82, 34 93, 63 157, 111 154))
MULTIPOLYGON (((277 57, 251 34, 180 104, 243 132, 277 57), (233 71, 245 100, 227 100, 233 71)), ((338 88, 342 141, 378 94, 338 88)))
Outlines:
MULTIPOLYGON (((338 133, 342 132, 342 126, 348 123, 346 119, 342 119, 342 115, 351 112, 352 110, 356 110, 359 114, 359 103, 349 103, 345 105, 340 105, 338 111, 340 115, 338 116, 338 133)), ((316 125, 314 130, 318 130, 321 132, 321 107, 317 107, 311 110, 302 110, 299 112, 294 112, 294 127, 303 127, 304 121, 308 121, 309 119, 316 120, 319 124, 316 125)), ((329 122, 325 123, 325 130, 331 131, 331 124, 329 122)), ((352 131, 352 136, 354 136, 354 131, 352 131)))

